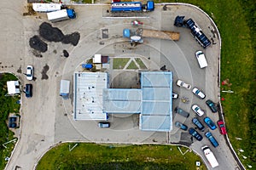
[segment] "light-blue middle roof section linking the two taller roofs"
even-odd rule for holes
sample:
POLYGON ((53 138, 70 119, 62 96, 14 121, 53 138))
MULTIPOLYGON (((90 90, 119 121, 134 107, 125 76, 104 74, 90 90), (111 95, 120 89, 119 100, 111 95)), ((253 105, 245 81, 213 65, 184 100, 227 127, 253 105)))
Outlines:
POLYGON ((108 88, 103 90, 103 111, 115 114, 141 112, 141 89, 108 88))

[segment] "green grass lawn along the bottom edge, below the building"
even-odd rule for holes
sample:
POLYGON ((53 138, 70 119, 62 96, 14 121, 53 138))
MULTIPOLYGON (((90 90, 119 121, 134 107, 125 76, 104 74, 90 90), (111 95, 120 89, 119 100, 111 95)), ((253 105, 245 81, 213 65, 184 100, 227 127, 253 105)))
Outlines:
MULTIPOLYGON (((195 161, 201 161, 201 158, 193 152, 182 156, 177 146, 171 145, 78 144, 69 151, 68 144, 60 144, 43 156, 37 169, 189 170, 196 169, 195 161)), ((207 167, 201 165, 199 169, 207 167)))

